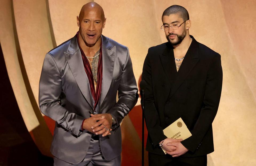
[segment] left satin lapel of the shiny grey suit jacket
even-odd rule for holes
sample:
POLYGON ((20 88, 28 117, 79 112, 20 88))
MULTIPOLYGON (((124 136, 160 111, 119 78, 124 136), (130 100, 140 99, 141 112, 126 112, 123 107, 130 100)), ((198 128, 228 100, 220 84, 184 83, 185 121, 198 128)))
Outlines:
POLYGON ((76 36, 71 39, 69 48, 67 49, 67 52, 64 52, 64 55, 66 57, 67 63, 69 64, 70 70, 75 78, 75 81, 77 82, 79 89, 81 90, 87 103, 93 109, 91 101, 93 99, 91 98, 90 94, 90 84, 85 72, 85 68, 83 66, 82 55, 77 44, 76 36))

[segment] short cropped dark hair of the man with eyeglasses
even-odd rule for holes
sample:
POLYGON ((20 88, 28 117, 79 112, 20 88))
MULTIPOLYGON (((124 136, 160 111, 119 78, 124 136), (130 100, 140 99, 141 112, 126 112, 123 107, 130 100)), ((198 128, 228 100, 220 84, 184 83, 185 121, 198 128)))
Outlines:
POLYGON ((169 16, 170 14, 176 14, 176 13, 179 13, 181 15, 181 18, 183 18, 184 21, 189 20, 189 13, 187 12, 187 9, 179 5, 172 5, 167 9, 165 9, 165 11, 163 11, 162 18, 163 16, 169 16))

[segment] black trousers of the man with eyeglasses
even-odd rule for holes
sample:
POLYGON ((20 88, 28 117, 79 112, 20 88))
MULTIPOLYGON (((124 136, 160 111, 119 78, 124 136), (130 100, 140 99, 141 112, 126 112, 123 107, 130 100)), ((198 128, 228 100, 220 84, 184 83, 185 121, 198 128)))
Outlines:
POLYGON ((207 166, 207 155, 197 157, 172 157, 149 153, 149 166, 207 166))

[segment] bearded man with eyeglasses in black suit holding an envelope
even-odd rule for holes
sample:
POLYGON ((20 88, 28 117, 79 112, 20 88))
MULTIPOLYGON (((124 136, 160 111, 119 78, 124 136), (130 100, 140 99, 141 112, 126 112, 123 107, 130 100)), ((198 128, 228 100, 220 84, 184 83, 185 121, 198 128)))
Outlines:
POLYGON ((221 56, 189 35, 191 21, 184 7, 168 7, 162 22, 168 42, 149 48, 142 72, 149 165, 207 165, 221 97, 221 56), (167 138, 163 129, 179 118, 192 136, 167 138))

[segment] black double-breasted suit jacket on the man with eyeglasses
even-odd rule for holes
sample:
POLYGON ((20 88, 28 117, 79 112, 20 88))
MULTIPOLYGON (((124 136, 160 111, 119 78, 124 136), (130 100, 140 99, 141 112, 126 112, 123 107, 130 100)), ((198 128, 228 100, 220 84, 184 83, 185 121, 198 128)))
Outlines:
POLYGON ((177 72, 169 42, 151 47, 146 56, 142 80, 145 90, 146 150, 164 155, 159 142, 163 129, 178 118, 192 136, 181 143, 189 149, 183 156, 200 156, 214 151, 212 122, 222 89, 221 56, 193 40, 177 72))

